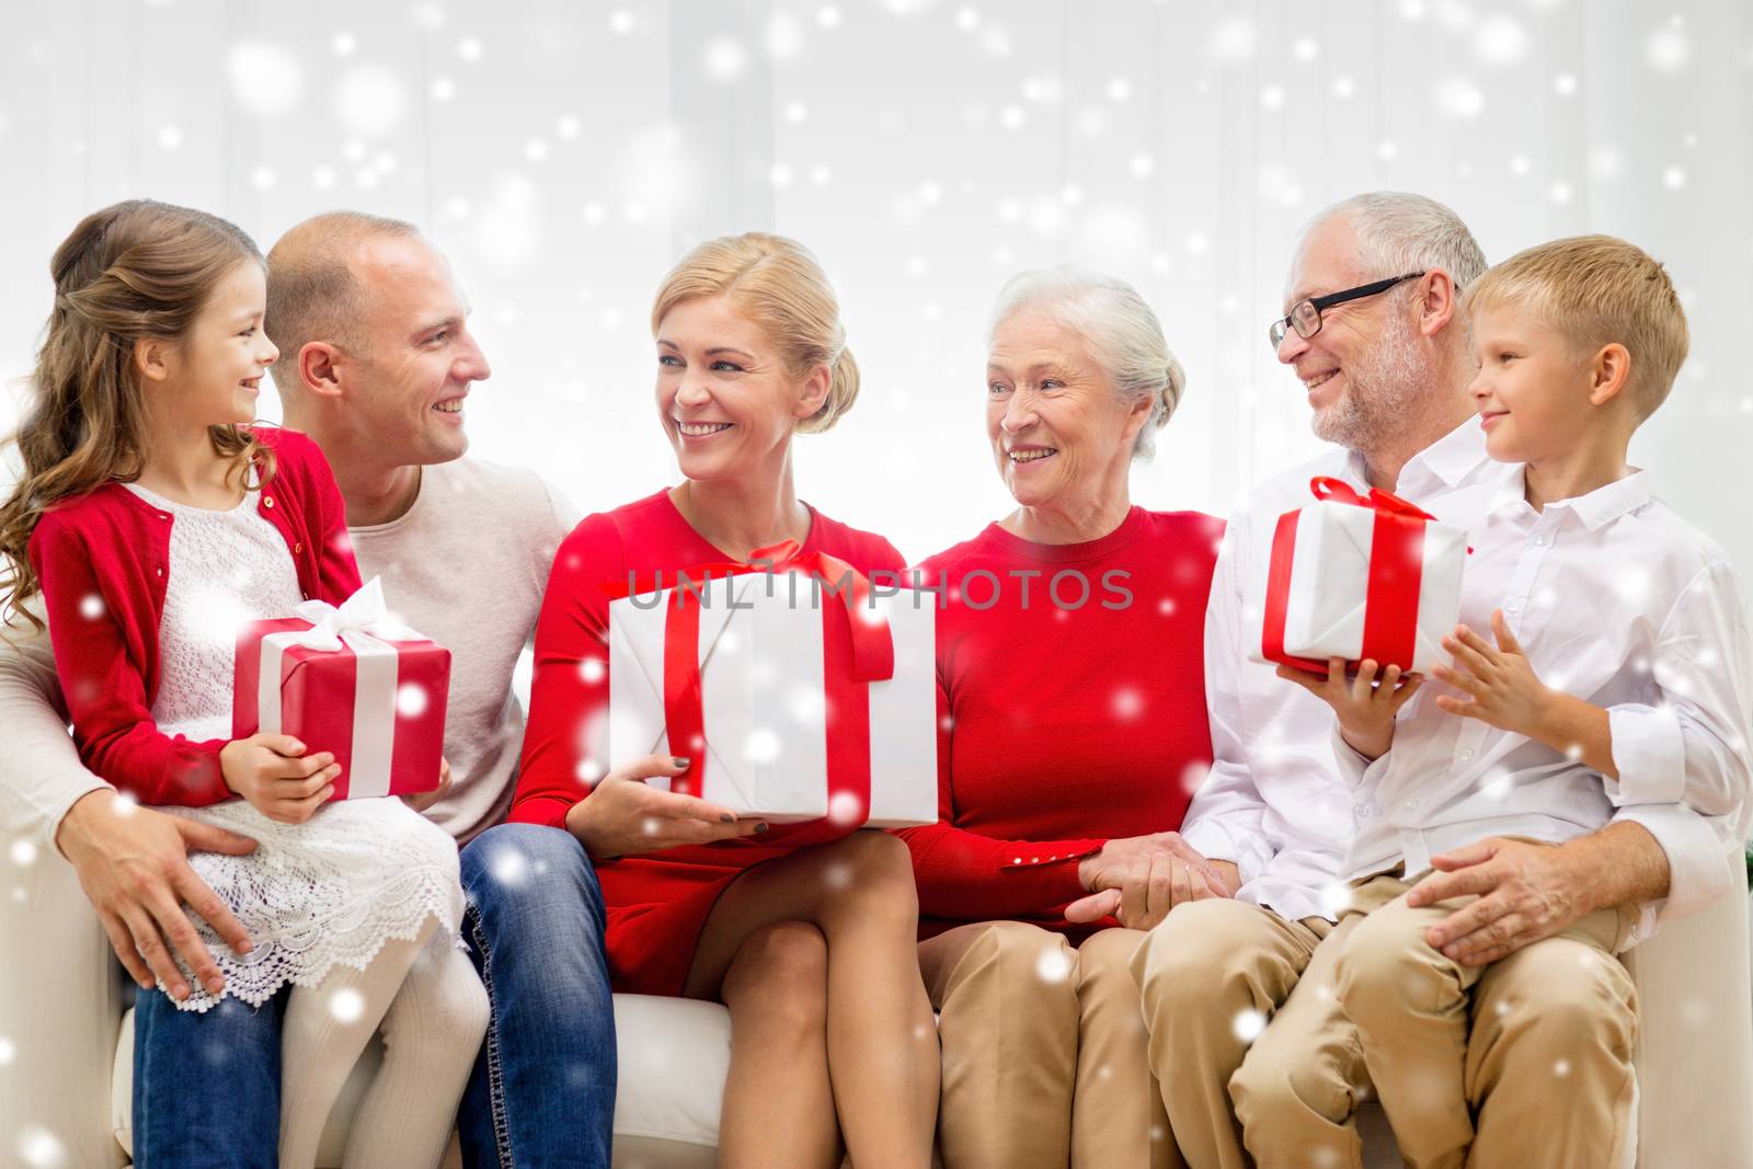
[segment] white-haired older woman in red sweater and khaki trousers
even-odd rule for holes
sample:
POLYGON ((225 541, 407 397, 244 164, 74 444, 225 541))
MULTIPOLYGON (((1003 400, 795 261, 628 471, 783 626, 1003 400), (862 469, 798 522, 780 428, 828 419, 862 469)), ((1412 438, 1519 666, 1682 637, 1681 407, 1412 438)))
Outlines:
POLYGON ((947 598, 940 822, 903 832, 948 1169, 1178 1164, 1127 962, 1171 904, 1238 883, 1169 831, 1211 759, 1222 524, 1127 491, 1182 382, 1122 280, 1029 272, 999 294, 987 436, 1017 510, 920 566, 947 598))

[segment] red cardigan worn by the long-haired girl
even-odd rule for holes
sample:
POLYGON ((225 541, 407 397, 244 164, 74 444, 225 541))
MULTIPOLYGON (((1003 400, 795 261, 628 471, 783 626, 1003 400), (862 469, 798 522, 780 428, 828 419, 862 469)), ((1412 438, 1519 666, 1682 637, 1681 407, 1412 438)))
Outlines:
MULTIPOLYGON (((254 435, 275 456, 256 507, 286 538, 305 599, 338 605, 359 587, 359 568, 335 477, 305 435, 266 426, 254 435)), ((195 808, 231 799, 219 769, 228 740, 196 743, 153 722, 174 522, 110 482, 53 505, 30 536, 30 563, 79 757, 140 803, 195 808)))

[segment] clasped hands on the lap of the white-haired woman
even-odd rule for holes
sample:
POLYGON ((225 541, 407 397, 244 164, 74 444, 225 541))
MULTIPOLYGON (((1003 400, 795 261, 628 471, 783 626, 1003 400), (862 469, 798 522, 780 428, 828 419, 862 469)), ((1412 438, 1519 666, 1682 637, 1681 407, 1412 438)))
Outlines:
POLYGON ((1180 832, 1110 840, 1082 861, 1078 878, 1092 892, 1066 906, 1066 920, 1117 917, 1127 929, 1150 929, 1187 901, 1232 897, 1241 885, 1234 864, 1208 861, 1180 832))

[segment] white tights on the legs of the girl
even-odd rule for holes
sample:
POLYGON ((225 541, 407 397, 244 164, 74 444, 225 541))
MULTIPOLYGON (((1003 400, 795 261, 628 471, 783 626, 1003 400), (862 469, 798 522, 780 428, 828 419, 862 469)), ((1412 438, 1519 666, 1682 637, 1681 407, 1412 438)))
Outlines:
POLYGON ((335 1097, 372 1034, 384 1064, 347 1134, 347 1169, 435 1169, 487 1031, 487 992, 436 918, 363 971, 295 987, 280 1031, 280 1169, 310 1169, 335 1097))

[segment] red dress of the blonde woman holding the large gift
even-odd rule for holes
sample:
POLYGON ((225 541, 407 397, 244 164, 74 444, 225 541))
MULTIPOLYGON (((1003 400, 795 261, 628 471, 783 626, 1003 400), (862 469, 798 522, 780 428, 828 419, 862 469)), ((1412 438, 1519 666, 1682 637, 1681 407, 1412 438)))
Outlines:
MULTIPOLYGON (((882 536, 847 528, 810 508, 805 552, 836 556, 866 577, 899 571, 906 561, 882 536)), ((603 773, 598 727, 608 719, 608 596, 628 573, 649 580, 696 564, 733 559, 706 543, 670 491, 589 515, 561 543, 536 620, 529 726, 512 820, 563 827, 566 811, 603 773)), ((745 869, 789 855, 796 832, 822 838, 822 825, 775 825, 759 838, 666 848, 601 864, 596 876, 608 910, 608 974, 615 990, 682 994, 694 943, 719 894, 745 869)))

